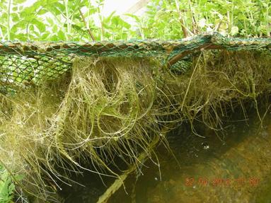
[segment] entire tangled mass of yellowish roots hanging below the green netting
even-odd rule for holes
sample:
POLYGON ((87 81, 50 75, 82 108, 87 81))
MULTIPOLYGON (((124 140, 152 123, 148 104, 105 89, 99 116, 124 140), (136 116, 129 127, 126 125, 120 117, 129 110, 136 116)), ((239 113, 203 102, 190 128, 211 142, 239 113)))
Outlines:
POLYGON ((237 106, 258 108, 270 93, 270 59, 200 52, 176 75, 151 59, 77 58, 58 81, 0 95, 1 164, 24 174, 25 191, 41 199, 70 184, 71 170, 118 177, 116 158, 127 166, 142 152, 151 158, 151 141, 166 143, 163 132, 180 122, 218 130, 237 106))

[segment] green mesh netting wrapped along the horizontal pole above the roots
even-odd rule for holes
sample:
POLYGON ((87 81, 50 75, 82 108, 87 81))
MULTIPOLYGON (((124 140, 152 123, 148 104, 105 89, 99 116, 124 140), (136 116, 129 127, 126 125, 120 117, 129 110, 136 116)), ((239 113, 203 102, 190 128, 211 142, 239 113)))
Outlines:
POLYGON ((270 50, 271 38, 233 38, 219 33, 183 40, 113 42, 0 42, 0 91, 28 86, 44 78, 58 78, 76 56, 154 57, 174 72, 190 67, 198 50, 270 50))

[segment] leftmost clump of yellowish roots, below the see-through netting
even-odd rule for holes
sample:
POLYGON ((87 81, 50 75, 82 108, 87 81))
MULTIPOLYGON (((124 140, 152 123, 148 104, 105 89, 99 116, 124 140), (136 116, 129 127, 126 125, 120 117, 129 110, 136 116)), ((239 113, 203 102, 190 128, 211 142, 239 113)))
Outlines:
MULTIPOLYGON (((21 90, 4 96, 11 108, 0 126, 0 160, 14 174, 23 174, 22 185, 33 196, 50 199, 45 182, 45 153, 52 139, 45 133, 60 103, 59 86, 21 90)), ((63 93, 62 93, 63 95, 63 93)))

